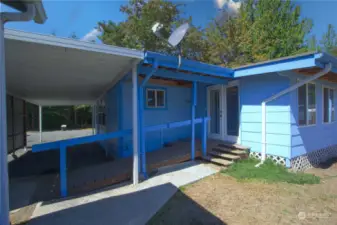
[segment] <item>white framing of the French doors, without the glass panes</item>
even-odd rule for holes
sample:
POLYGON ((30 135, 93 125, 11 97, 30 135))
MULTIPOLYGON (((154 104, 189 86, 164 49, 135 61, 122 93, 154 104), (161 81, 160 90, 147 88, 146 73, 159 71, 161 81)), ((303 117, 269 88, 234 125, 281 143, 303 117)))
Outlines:
POLYGON ((218 139, 228 141, 232 143, 241 143, 241 113, 240 113, 240 83, 238 80, 230 81, 227 85, 212 85, 207 87, 207 116, 210 117, 210 91, 220 89, 220 134, 211 133, 211 123, 208 123, 208 136, 211 139, 218 139), (227 88, 237 86, 238 87, 238 136, 227 135, 227 88))

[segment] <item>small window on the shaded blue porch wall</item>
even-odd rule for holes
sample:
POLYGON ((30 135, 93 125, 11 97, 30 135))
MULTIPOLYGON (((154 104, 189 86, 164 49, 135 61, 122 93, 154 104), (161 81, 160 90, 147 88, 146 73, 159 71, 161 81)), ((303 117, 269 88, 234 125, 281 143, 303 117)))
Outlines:
POLYGON ((165 108, 166 91, 164 89, 146 89, 146 108, 165 108))

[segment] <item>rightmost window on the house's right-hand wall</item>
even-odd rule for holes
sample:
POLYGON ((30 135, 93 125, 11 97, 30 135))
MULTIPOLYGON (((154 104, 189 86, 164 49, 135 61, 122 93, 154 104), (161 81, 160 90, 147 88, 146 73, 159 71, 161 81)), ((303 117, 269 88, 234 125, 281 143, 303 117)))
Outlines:
POLYGON ((335 121, 334 90, 331 88, 323 88, 323 121, 324 123, 335 121))

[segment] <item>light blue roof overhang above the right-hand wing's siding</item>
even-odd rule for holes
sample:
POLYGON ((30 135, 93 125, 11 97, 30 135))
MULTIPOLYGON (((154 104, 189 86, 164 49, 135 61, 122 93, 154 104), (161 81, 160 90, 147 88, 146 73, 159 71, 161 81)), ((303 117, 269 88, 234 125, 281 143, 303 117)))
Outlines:
POLYGON ((234 69, 234 78, 260 75, 273 72, 295 71, 304 75, 311 75, 324 68, 327 63, 332 64, 329 75, 337 73, 337 58, 324 52, 309 52, 301 55, 279 58, 266 62, 242 66, 234 69))

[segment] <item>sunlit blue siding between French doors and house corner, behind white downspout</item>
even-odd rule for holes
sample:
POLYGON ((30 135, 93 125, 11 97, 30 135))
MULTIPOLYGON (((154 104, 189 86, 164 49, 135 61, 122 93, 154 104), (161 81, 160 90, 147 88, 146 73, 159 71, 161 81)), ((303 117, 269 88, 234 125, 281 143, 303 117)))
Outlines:
MULTIPOLYGON (((241 144, 251 151, 261 151, 261 102, 286 89, 287 77, 264 74, 240 79, 241 144)), ((267 103, 266 116, 267 154, 290 157, 290 95, 284 95, 267 103)))

